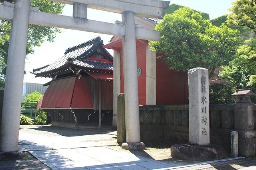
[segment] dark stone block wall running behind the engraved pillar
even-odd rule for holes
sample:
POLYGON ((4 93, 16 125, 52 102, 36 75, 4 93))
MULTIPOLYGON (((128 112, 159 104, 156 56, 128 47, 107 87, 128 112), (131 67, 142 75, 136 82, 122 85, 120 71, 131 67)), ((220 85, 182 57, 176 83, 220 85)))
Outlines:
MULTIPOLYGON (((230 153, 230 132, 236 130, 239 156, 256 156, 256 105, 251 104, 252 117, 246 116, 246 113, 240 110, 236 111, 241 114, 239 117, 236 116, 236 119, 235 105, 236 103, 210 105, 210 144, 218 144, 230 153), (247 126, 248 120, 253 121, 254 128, 247 126), (241 123, 243 125, 240 125, 241 123), (249 128, 244 129, 244 126, 249 128)), ((188 105, 144 105, 140 106, 139 114, 141 142, 145 144, 189 142, 188 105)))

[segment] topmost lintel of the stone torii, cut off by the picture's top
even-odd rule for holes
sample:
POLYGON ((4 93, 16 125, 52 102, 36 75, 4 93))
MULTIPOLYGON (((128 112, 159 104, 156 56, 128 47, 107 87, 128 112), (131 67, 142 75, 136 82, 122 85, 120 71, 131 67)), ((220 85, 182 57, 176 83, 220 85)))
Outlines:
POLYGON ((50 0, 64 4, 86 4, 88 8, 122 14, 125 11, 135 13, 135 16, 155 18, 162 14, 170 1, 160 0, 50 0))

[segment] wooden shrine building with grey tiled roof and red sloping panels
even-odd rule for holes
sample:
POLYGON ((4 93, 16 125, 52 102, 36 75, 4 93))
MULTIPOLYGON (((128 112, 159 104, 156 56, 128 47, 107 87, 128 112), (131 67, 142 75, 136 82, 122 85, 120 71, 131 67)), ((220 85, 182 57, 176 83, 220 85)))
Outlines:
POLYGON ((67 49, 56 62, 32 73, 52 78, 44 84, 49 87, 38 103, 50 115, 52 125, 112 125, 113 57, 100 37, 67 49))

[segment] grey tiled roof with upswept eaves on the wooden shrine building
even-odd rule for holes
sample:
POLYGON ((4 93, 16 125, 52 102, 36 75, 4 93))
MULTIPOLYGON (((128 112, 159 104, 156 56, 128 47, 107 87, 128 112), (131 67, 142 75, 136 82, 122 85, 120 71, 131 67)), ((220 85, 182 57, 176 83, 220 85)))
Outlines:
MULTIPOLYGON (((95 55, 96 56, 96 55, 95 55)), ((58 68, 65 66, 68 63, 73 63, 78 66, 95 68, 95 69, 107 69, 113 70, 113 57, 103 48, 103 41, 100 37, 97 37, 88 42, 76 45, 68 48, 65 51, 65 55, 50 65, 33 69, 33 74, 36 76, 44 75, 54 71, 58 68), (95 52, 99 53, 97 56, 107 59, 110 63, 86 60, 87 57, 91 57, 95 52)))

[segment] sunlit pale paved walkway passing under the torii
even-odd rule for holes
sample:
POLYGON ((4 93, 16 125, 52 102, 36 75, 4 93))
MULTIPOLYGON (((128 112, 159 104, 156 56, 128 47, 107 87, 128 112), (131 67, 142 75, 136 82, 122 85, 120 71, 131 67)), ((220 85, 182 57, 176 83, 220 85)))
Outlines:
MULTIPOLYGON (((87 129, 89 130, 89 129, 87 129)), ((19 148, 53 170, 153 170, 191 169, 196 165, 236 162, 243 157, 208 162, 157 161, 121 149, 116 132, 83 136, 44 136, 20 132, 19 148)))

